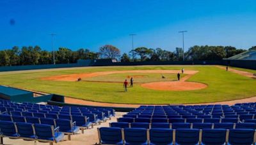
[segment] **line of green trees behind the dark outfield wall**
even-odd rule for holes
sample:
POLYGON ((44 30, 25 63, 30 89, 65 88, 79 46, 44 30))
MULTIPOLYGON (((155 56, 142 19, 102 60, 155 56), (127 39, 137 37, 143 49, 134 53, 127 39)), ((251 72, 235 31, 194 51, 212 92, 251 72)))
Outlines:
MULTIPOLYGON (((252 46, 249 50, 256 50, 252 46)), ((120 49, 113 45, 104 45, 99 52, 92 52, 87 48, 73 51, 69 48, 60 47, 54 52, 56 64, 76 63, 79 59, 117 59, 121 62, 132 61, 180 61, 183 60, 221 60, 232 57, 244 49, 233 46, 192 46, 183 53, 182 48, 175 48, 171 52, 162 48, 138 47, 129 53, 121 54, 120 49)), ((11 49, 0 51, 0 66, 23 66, 38 64, 53 64, 53 52, 42 50, 40 46, 14 46, 11 49)))

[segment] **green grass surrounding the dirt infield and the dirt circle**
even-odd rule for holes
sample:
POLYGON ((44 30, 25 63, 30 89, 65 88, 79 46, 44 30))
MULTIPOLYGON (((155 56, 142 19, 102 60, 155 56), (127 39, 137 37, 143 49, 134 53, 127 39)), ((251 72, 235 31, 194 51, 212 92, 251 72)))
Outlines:
POLYGON ((67 70, 25 71, 17 73, 1 73, 0 84, 26 88, 35 91, 57 93, 78 99, 94 100, 99 102, 115 102, 130 104, 180 104, 216 102, 223 100, 242 99, 256 96, 256 80, 246 78, 234 72, 226 72, 214 66, 131 66, 131 67, 84 67, 67 70), (118 70, 173 70, 181 69, 199 71, 188 81, 197 81, 208 85, 203 90, 184 92, 157 91, 142 88, 134 84, 124 92, 122 83, 98 82, 69 82, 47 81, 41 77, 56 76, 61 74, 74 74, 97 71, 118 70))

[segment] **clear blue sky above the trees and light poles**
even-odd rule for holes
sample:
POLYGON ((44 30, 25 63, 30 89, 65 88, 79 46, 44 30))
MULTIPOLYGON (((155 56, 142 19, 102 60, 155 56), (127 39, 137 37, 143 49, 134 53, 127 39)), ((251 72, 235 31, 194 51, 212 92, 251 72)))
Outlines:
POLYGON ((255 0, 1 0, 0 50, 39 45, 98 51, 106 44, 122 52, 134 47, 175 50, 178 31, 193 45, 256 45, 255 0), (10 24, 14 20, 14 24, 10 24))

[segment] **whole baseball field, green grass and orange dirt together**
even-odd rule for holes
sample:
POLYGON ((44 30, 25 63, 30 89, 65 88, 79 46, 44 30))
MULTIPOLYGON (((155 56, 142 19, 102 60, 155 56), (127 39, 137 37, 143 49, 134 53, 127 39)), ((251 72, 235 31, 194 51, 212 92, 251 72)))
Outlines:
POLYGON ((126 104, 191 104, 256 96, 256 79, 226 71, 223 66, 109 66, 1 72, 0 85, 126 104), (82 80, 77 81, 78 78, 82 80), (128 85, 124 92, 124 80, 129 82, 131 78, 133 87, 128 85))

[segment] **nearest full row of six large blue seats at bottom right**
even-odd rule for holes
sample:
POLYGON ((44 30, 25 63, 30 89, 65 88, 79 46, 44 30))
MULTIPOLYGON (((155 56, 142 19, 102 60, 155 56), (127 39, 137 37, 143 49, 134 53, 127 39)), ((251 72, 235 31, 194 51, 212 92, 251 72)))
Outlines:
POLYGON ((166 129, 118 128, 98 129, 100 144, 253 144, 252 129, 166 129))

